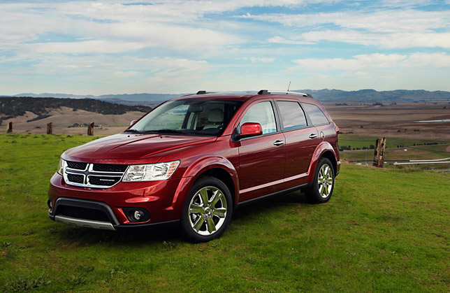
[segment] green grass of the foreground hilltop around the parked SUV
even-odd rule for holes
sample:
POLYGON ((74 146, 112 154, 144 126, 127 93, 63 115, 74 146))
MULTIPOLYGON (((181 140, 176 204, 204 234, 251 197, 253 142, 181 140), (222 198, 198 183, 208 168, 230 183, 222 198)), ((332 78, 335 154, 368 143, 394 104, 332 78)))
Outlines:
POLYGON ((450 174, 343 165, 331 201, 237 210, 222 238, 48 219, 61 152, 87 136, 0 135, 0 291, 449 292, 450 174))

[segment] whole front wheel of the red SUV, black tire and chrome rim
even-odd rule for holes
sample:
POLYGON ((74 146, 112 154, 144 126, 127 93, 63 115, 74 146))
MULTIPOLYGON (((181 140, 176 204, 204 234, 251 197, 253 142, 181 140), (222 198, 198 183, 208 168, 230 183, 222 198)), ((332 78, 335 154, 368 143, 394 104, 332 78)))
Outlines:
POLYGON ((194 183, 184 202, 181 229, 191 242, 208 242, 224 234, 232 215, 233 200, 228 187, 217 178, 205 176, 194 183))

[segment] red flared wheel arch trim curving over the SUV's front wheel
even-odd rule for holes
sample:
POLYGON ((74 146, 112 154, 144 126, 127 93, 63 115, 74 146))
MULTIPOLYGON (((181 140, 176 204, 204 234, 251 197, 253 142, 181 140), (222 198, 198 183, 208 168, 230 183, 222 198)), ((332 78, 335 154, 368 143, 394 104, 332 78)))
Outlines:
POLYGON ((176 210, 177 215, 181 217, 182 210, 184 206, 184 201, 189 194, 189 190, 191 190, 192 185, 194 185, 195 181, 206 171, 210 169, 223 169, 224 171, 230 174, 233 185, 234 185, 234 194, 235 194, 235 202, 238 202, 239 196, 239 182, 238 182, 238 172, 235 170, 233 164, 229 162, 224 157, 218 156, 210 156, 210 157, 202 157, 198 159, 198 161, 190 164, 189 168, 184 172, 183 178, 180 180, 180 184, 177 187, 175 195, 173 196, 172 205, 170 209, 176 210))

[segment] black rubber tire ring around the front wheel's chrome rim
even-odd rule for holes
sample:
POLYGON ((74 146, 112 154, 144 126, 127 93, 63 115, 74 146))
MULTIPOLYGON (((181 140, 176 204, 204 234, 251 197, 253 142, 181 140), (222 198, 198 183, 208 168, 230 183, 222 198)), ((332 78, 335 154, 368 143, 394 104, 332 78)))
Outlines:
POLYGON ((208 242, 215 238, 219 238, 224 234, 228 224, 231 221, 231 216, 233 215, 233 200, 231 199, 231 193, 228 190, 228 187, 219 179, 214 177, 203 177, 196 180, 194 185, 192 185, 191 190, 189 190, 189 194, 184 201, 183 213, 180 221, 181 229, 184 236, 191 242, 200 243, 200 242, 208 242), (226 200, 226 217, 224 224, 220 227, 214 234, 205 236, 200 235, 194 229, 192 229, 191 224, 189 222, 189 206, 192 198, 195 196, 198 190, 201 190, 203 187, 213 186, 219 188, 222 194, 224 194, 224 198, 226 200))

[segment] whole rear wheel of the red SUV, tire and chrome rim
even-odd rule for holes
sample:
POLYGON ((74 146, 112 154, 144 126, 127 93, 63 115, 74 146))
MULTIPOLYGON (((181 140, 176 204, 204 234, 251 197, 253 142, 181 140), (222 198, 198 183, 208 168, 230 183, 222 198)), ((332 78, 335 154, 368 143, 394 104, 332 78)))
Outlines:
POLYGON ((335 187, 335 171, 330 160, 322 157, 314 171, 314 180, 305 195, 311 203, 326 203, 330 200, 335 187))

